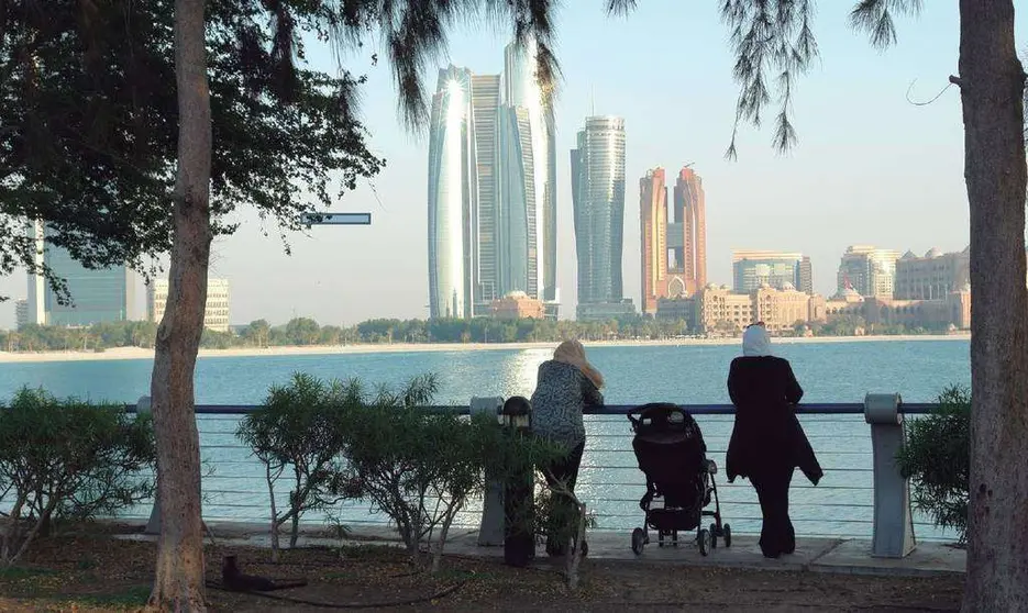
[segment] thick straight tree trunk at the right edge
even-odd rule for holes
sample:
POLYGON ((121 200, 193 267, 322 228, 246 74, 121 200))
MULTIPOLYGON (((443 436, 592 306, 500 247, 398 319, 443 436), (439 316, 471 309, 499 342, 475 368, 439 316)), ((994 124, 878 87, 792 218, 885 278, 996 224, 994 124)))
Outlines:
POLYGON ((960 1, 971 204, 971 509, 964 611, 1028 611, 1028 291, 1012 0, 960 1))

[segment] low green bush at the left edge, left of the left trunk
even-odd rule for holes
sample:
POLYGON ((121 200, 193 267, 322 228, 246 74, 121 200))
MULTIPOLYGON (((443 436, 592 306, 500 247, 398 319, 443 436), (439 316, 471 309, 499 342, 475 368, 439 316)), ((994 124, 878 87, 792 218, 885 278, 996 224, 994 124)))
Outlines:
POLYGON ((0 409, 0 490, 13 493, 0 561, 18 560, 52 520, 110 515, 151 498, 155 460, 148 417, 22 389, 0 409))

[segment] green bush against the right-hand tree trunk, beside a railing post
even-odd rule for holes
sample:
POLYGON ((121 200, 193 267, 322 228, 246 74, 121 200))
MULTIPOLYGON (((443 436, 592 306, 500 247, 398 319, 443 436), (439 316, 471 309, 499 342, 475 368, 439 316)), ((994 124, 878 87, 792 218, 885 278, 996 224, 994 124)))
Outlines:
POLYGON ((939 395, 938 408, 908 423, 906 444, 896 458, 914 484, 914 506, 936 525, 968 532, 971 471, 971 391, 953 386, 939 395))

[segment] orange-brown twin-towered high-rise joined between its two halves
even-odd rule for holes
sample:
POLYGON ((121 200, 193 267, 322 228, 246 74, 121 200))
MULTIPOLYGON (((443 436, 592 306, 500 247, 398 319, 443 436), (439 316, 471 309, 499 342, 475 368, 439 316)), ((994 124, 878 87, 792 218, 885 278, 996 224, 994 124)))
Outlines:
POLYGON ((678 172, 670 210, 664 169, 654 168, 640 179, 644 313, 655 313, 661 298, 693 296, 707 285, 705 216, 703 181, 690 168, 678 172))

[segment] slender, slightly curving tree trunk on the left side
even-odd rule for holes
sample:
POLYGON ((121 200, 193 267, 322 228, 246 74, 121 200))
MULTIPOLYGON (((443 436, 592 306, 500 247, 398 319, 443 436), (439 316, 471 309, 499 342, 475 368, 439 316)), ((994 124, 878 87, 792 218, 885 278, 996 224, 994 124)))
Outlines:
POLYGON ((200 442, 194 414, 194 370, 203 332, 211 244, 211 110, 205 4, 205 0, 175 2, 178 178, 168 303, 157 330, 151 384, 161 537, 148 606, 163 611, 206 610, 200 442))

